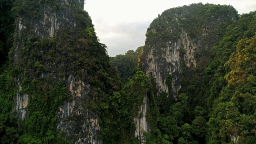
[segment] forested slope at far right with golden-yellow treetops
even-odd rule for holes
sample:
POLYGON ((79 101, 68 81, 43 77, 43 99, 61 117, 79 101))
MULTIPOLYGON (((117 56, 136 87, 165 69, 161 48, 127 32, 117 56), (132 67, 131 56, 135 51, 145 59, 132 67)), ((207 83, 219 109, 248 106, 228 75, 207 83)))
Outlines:
POLYGON ((255 142, 251 101, 255 94, 255 14, 243 14, 228 26, 212 47, 210 59, 196 68, 183 68, 180 93, 188 95, 192 117, 187 123, 193 128, 193 139, 200 143, 255 142))

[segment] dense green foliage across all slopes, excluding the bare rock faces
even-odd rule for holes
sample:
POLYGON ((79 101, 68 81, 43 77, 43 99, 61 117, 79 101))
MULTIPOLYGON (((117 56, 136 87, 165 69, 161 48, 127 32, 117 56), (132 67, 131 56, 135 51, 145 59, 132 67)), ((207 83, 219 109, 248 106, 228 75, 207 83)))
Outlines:
MULTIPOLYGON (((9 1, 8 1, 9 2, 9 1)), ((36 20, 40 15, 40 4, 63 7, 49 0, 16 0, 13 12, 36 20), (24 10, 29 10, 26 12, 24 10)), ((1 1, 2 20, 10 24, 9 3, 1 1), (5 12, 7 14, 5 14, 5 12)), ((11 4, 10 4, 11 5, 11 4)), ((147 120, 150 132, 146 144, 252 144, 256 142, 256 12, 237 16, 237 21, 223 24, 211 30, 216 34, 215 43, 208 52, 209 58, 198 60, 196 67, 183 66, 182 88, 177 100, 171 95, 157 95, 154 78, 146 76, 138 66, 139 47, 125 55, 109 58, 106 46, 98 42, 87 12, 70 4, 78 22, 78 29, 62 28, 53 38, 38 38, 24 34, 17 41, 24 42, 20 59, 14 63, 14 51, 10 50, 10 62, 6 62, 11 47, 10 25, 1 26, 0 52, 0 140, 9 143, 72 143, 66 140, 63 132, 56 130, 56 112, 64 101, 71 101, 70 93, 63 78, 73 72, 77 79, 89 82, 92 86, 90 100, 85 107, 97 112, 100 123, 100 138, 104 143, 139 144, 135 138, 134 117, 148 96, 147 120), (77 34, 77 35, 76 35, 77 34), (76 35, 76 37, 72 37, 76 35), (9 39, 8 39, 9 38, 9 39), (40 53, 43 51, 44 53, 40 53), (50 66, 50 62, 66 64, 66 68, 50 66), (111 64, 112 62, 112 64, 111 64), (15 65, 16 64, 16 65, 15 65), (81 69, 88 73, 84 74, 81 69), (54 73, 57 78, 42 74, 54 73), (29 118, 17 121, 12 114, 13 97, 18 92, 17 78, 22 79, 22 94, 29 94, 29 118), (96 100, 94 100, 96 99, 96 100), (18 125, 19 124, 19 125, 18 125)), ((199 38, 208 18, 221 14, 228 6, 192 4, 191 19, 182 20, 190 36, 199 38), (223 9, 222 9, 223 8, 223 9), (202 13, 193 22, 193 13, 202 13)), ((179 13, 179 8, 175 8, 179 13)), ((168 10, 164 13, 168 14, 168 10)), ((233 12, 236 14, 236 11, 233 12)), ((172 14, 170 14, 172 15, 172 14)), ((187 17, 187 16, 186 16, 187 17)), ((170 34, 165 22, 158 24, 155 32, 146 34, 146 43, 163 40, 166 37, 178 38, 170 34), (167 31, 166 31, 167 30, 167 31)), ((176 21, 174 22, 176 24, 176 21)), ((179 25, 174 27, 179 29, 179 25)), ((209 28, 210 29, 210 28, 209 28)), ((168 86, 171 87, 171 75, 168 86)), ((170 88, 169 88, 170 89, 170 88)), ((79 138, 79 135, 77 136, 79 138)))

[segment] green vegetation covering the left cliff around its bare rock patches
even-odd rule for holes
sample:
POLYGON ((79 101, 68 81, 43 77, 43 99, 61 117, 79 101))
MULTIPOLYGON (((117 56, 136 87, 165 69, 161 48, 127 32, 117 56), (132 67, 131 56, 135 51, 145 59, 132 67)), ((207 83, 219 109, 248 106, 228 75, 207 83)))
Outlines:
MULTIPOLYGON (((84 106, 92 112, 105 111, 104 105, 119 90, 120 83, 106 55, 106 45, 98 42, 90 16, 74 1, 68 7, 76 27, 59 28, 51 38, 34 34, 29 20, 42 18, 44 7, 50 6, 56 12, 64 10, 64 6, 52 0, 16 0, 14 6, 13 14, 25 19, 26 29, 20 37, 14 34, 14 47, 19 50, 10 48, 10 61, 2 67, 0 143, 72 143, 62 137, 65 132, 56 129, 59 107, 73 100, 65 80, 72 75, 90 83, 90 100, 86 101, 90 105, 84 102, 84 106), (28 116, 24 120, 12 114, 17 95, 28 95, 28 116)), ((68 118, 76 124, 74 116, 68 118)))

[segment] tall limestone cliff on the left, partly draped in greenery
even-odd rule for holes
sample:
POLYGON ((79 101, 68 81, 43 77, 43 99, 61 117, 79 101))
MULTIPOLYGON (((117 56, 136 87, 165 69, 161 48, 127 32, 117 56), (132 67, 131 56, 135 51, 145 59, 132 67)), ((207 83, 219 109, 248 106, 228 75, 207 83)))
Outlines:
POLYGON ((49 134, 54 128, 47 126, 48 131, 36 134, 29 126, 36 123, 36 114, 37 125, 42 126, 41 118, 46 125, 55 124, 53 127, 68 141, 103 143, 97 100, 101 90, 114 86, 102 82, 110 65, 105 46, 98 42, 90 16, 83 10, 84 0, 16 3, 16 32, 10 52, 17 86, 15 116, 26 120, 27 133, 43 137, 43 141, 52 140, 49 134))

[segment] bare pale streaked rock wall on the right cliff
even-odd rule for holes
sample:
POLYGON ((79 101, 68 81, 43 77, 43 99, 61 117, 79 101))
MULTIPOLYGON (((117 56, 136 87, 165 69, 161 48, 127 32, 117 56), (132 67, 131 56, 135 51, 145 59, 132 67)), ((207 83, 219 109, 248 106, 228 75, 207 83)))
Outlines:
MULTIPOLYGON (((196 59, 194 52, 200 47, 200 41, 195 42, 186 32, 180 34, 178 41, 171 40, 161 48, 157 46, 145 46, 143 68, 146 70, 148 76, 156 78, 160 92, 168 93, 168 86, 166 84, 167 74, 172 75, 172 92, 174 97, 177 96, 178 90, 181 88, 179 84, 180 72, 182 70, 182 63, 186 66, 196 66, 196 59), (155 51, 162 51, 159 55, 155 51), (180 50, 184 50, 184 54, 180 54, 180 50)), ((207 49, 207 47, 205 47, 207 49)))

